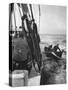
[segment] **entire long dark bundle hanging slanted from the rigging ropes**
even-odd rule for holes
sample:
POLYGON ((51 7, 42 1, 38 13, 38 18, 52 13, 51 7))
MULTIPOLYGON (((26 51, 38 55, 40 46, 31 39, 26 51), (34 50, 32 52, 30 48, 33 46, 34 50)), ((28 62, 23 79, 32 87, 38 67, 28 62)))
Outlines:
POLYGON ((37 25, 33 20, 29 21, 27 18, 27 15, 24 15, 22 17, 22 21, 25 20, 26 21, 26 25, 27 25, 27 42, 31 51, 31 55, 32 55, 32 61, 34 64, 34 61, 36 60, 38 62, 39 65, 39 69, 41 66, 41 51, 40 51, 40 46, 39 46, 39 42, 40 42, 40 37, 39 34, 37 32, 37 25), (32 27, 31 27, 32 25, 32 27))

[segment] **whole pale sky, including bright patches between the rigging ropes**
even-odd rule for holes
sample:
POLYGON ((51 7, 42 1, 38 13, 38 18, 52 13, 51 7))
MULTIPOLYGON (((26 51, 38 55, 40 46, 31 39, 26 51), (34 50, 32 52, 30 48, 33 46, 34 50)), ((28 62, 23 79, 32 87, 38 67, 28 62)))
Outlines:
MULTIPOLYGON (((53 5, 33 5, 33 14, 36 20, 39 34, 66 34, 66 7, 53 5)), ((21 26, 21 17, 17 5, 15 5, 16 25, 21 26)), ((14 20, 13 20, 14 23, 14 20)))

